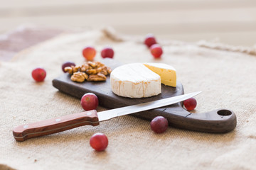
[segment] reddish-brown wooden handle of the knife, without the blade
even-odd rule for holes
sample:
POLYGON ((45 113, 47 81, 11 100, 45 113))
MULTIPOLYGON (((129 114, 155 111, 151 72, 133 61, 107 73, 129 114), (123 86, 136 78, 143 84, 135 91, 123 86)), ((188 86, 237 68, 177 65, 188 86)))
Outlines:
POLYGON ((97 111, 85 111, 82 113, 64 115, 59 118, 43 120, 37 123, 20 125, 14 128, 13 135, 16 141, 24 141, 31 137, 50 135, 82 125, 100 125, 97 111))

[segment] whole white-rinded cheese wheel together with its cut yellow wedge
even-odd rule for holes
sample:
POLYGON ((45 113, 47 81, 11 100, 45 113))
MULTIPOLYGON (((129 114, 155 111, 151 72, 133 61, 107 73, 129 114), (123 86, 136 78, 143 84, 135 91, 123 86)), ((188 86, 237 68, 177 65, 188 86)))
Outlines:
POLYGON ((176 87, 176 70, 162 63, 134 63, 115 68, 110 74, 114 94, 144 98, 161 94, 161 83, 176 87))

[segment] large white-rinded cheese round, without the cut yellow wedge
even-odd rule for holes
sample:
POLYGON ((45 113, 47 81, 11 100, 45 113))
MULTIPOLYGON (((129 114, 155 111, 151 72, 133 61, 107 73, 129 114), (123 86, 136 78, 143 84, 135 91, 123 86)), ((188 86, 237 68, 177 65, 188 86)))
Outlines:
POLYGON ((144 64, 125 64, 110 74, 114 94, 129 98, 144 98, 161 94, 161 78, 144 64))

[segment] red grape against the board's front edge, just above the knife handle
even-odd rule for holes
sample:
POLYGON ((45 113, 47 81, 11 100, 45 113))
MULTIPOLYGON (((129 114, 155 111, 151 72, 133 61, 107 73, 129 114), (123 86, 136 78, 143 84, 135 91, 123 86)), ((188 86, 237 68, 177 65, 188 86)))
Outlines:
POLYGON ((95 94, 87 93, 82 96, 80 103, 85 111, 90 111, 97 108, 99 101, 95 94))

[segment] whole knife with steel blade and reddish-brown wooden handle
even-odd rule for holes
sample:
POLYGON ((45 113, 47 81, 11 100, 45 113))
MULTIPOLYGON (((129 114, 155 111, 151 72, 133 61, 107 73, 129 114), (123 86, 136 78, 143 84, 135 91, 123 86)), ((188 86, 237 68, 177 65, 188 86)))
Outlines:
POLYGON ((158 101, 150 101, 133 106, 126 106, 122 108, 114 108, 107 111, 98 112, 95 110, 84 111, 71 115, 64 115, 62 117, 43 120, 37 123, 30 123, 20 125, 13 130, 13 135, 16 141, 28 140, 32 137, 39 137, 43 135, 50 135, 56 132, 62 132, 77 128, 82 125, 100 125, 100 122, 110 120, 121 115, 128 115, 131 113, 138 113, 141 111, 151 110, 153 108, 161 108, 180 101, 185 101, 188 98, 200 94, 201 91, 190 94, 183 94, 170 98, 164 98, 158 101))

